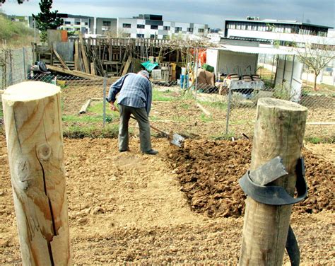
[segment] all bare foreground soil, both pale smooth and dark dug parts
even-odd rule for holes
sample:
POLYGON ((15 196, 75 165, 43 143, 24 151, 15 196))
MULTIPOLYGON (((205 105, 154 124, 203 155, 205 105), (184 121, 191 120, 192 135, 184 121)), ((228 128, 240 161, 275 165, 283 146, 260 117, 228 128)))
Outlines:
MULTIPOLYGON (((233 202, 243 205, 244 196, 236 182, 248 167, 249 142, 187 141, 182 151, 165 139, 153 139, 158 156, 139 153, 136 139, 131 139, 131 151, 122 154, 115 139, 65 139, 64 144, 71 249, 76 265, 237 264, 243 206, 233 202), (202 187, 195 185, 194 190, 206 196, 198 197, 204 206, 211 202, 207 208, 194 209, 189 204, 192 199, 185 188, 194 180, 185 181, 193 170, 199 170, 201 175, 194 174, 203 178, 202 187), (218 187, 230 187, 231 191, 222 195, 221 207, 216 208, 218 199, 207 190, 218 187), (226 208, 229 215, 223 215, 226 208)), ((310 197, 306 207, 295 207, 292 217, 301 265, 332 265, 334 193, 329 191, 334 192, 334 180, 329 178, 334 178, 334 167, 310 152, 305 156, 310 197), (312 197, 316 199, 309 202, 312 197)), ((7 160, 6 143, 0 136, 1 265, 20 263, 7 160)), ((193 201, 193 205, 200 202, 193 201)))

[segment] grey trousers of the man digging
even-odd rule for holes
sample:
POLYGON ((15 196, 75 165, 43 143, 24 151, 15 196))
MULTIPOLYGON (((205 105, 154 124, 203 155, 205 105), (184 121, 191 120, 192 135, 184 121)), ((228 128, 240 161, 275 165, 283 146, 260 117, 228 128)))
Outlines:
POLYGON ((129 148, 128 124, 130 115, 134 115, 139 123, 141 151, 151 150, 150 124, 145 108, 134 108, 126 105, 119 105, 120 125, 119 125, 119 150, 129 148))

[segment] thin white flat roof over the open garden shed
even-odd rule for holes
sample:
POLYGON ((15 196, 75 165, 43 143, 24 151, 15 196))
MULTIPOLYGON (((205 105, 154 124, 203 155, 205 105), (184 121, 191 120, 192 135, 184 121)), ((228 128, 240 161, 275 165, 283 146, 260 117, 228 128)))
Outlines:
POLYGON ((245 54, 294 54, 294 52, 289 52, 277 48, 254 47, 254 46, 223 45, 221 47, 214 47, 211 49, 225 50, 231 52, 242 52, 245 54))

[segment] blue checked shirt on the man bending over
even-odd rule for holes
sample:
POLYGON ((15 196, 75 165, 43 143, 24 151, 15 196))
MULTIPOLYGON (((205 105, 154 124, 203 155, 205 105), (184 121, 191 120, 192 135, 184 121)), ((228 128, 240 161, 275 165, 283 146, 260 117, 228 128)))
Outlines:
POLYGON ((134 73, 122 76, 110 86, 110 92, 106 98, 107 102, 114 103, 117 93, 119 93, 117 103, 134 108, 146 108, 149 115, 152 88, 151 82, 146 77, 134 73))

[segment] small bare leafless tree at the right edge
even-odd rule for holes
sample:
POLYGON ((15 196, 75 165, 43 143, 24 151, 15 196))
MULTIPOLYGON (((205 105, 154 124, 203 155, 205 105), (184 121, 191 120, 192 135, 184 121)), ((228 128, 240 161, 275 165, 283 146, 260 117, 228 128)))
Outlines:
POLYGON ((300 62, 313 69, 315 73, 315 91, 317 91, 317 76, 319 76, 321 71, 327 67, 327 64, 329 64, 331 60, 335 59, 334 48, 334 45, 326 44, 305 43, 305 47, 302 48, 295 45, 295 52, 297 53, 300 62))

